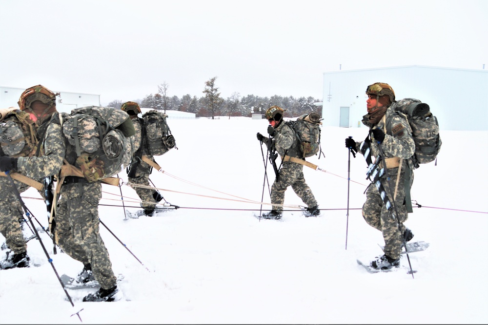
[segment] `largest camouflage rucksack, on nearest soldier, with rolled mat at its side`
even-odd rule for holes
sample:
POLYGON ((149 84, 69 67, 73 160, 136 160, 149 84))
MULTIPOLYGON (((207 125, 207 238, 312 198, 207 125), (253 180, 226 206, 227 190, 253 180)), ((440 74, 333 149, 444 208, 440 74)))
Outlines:
POLYGON ((63 134, 77 154, 76 167, 89 182, 113 176, 130 163, 135 134, 129 115, 112 107, 88 106, 71 111, 63 134))

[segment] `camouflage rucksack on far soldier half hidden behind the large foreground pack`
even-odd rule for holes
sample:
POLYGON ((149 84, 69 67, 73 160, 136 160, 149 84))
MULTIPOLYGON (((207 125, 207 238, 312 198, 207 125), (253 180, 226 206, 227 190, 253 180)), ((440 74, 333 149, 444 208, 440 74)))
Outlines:
POLYGON ((150 110, 142 115, 145 132, 143 141, 148 154, 152 156, 162 155, 176 147, 175 138, 166 123, 167 117, 158 110, 150 110))

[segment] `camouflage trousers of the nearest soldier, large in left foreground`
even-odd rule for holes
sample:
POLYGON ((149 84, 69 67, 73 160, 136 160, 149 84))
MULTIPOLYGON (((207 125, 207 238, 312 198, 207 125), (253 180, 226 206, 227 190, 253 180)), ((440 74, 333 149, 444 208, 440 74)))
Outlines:
POLYGON ((100 286, 109 289, 117 284, 117 278, 100 236, 101 199, 100 182, 63 184, 56 210, 56 233, 61 249, 83 265, 90 263, 100 286))

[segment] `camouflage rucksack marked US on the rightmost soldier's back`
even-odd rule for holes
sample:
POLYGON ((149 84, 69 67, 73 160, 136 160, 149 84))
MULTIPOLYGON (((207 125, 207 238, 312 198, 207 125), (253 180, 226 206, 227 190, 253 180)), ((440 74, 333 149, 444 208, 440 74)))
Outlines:
MULTIPOLYGON (((404 98, 391 104, 391 107, 407 116, 415 142, 415 168, 434 161, 441 150, 442 141, 437 117, 432 115, 428 104, 415 98, 404 98)), ((391 130, 391 120, 386 121, 386 129, 394 131, 391 130)))

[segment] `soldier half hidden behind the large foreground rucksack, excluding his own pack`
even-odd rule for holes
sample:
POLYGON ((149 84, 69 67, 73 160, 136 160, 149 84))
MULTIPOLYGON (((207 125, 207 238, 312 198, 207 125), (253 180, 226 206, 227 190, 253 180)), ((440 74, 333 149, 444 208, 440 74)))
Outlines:
POLYGON ((144 213, 147 216, 152 216, 156 208, 156 204, 163 199, 163 195, 155 189, 142 188, 137 185, 149 186, 149 175, 152 172, 152 167, 146 162, 141 160, 142 155, 147 156, 149 159, 153 160, 153 157, 148 153, 147 148, 144 146, 145 132, 143 132, 142 118, 138 117, 141 113, 141 108, 139 104, 128 101, 122 104, 122 111, 126 112, 132 123, 134 124, 134 129, 136 134, 134 135, 134 148, 136 152, 130 163, 130 168, 127 172, 130 187, 136 191, 137 195, 141 199, 141 207, 144 209, 144 213), (132 185, 135 184, 135 185, 132 185))

